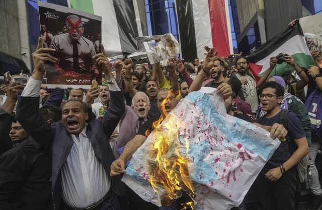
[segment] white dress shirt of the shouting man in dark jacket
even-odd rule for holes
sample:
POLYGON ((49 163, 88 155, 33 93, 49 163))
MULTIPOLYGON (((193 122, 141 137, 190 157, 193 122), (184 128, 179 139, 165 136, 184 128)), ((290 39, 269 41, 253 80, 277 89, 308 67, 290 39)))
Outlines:
MULTIPOLYGON (((42 81, 30 78, 22 96, 37 97, 42 81)), ((111 91, 120 90, 117 85, 109 85, 111 91)), ((110 177, 102 163, 96 158, 92 144, 84 128, 79 140, 74 135, 73 146, 61 169, 62 197, 70 207, 86 208, 97 203, 109 191, 110 177)))

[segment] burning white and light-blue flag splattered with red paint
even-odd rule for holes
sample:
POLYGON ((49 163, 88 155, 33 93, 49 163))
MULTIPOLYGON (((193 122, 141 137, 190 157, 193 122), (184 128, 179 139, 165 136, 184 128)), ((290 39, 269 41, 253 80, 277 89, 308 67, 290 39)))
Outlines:
POLYGON ((226 115, 215 89, 202 88, 151 132, 122 180, 158 206, 185 192, 192 208, 230 209, 244 199, 279 144, 265 130, 226 115))

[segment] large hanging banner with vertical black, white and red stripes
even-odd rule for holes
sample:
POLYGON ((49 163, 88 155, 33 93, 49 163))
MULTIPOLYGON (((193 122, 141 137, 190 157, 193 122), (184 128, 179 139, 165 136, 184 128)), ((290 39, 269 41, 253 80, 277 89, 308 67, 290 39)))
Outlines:
POLYGON ((177 0, 176 12, 182 57, 205 57, 204 46, 214 47, 219 57, 232 54, 228 2, 225 0, 177 0))

